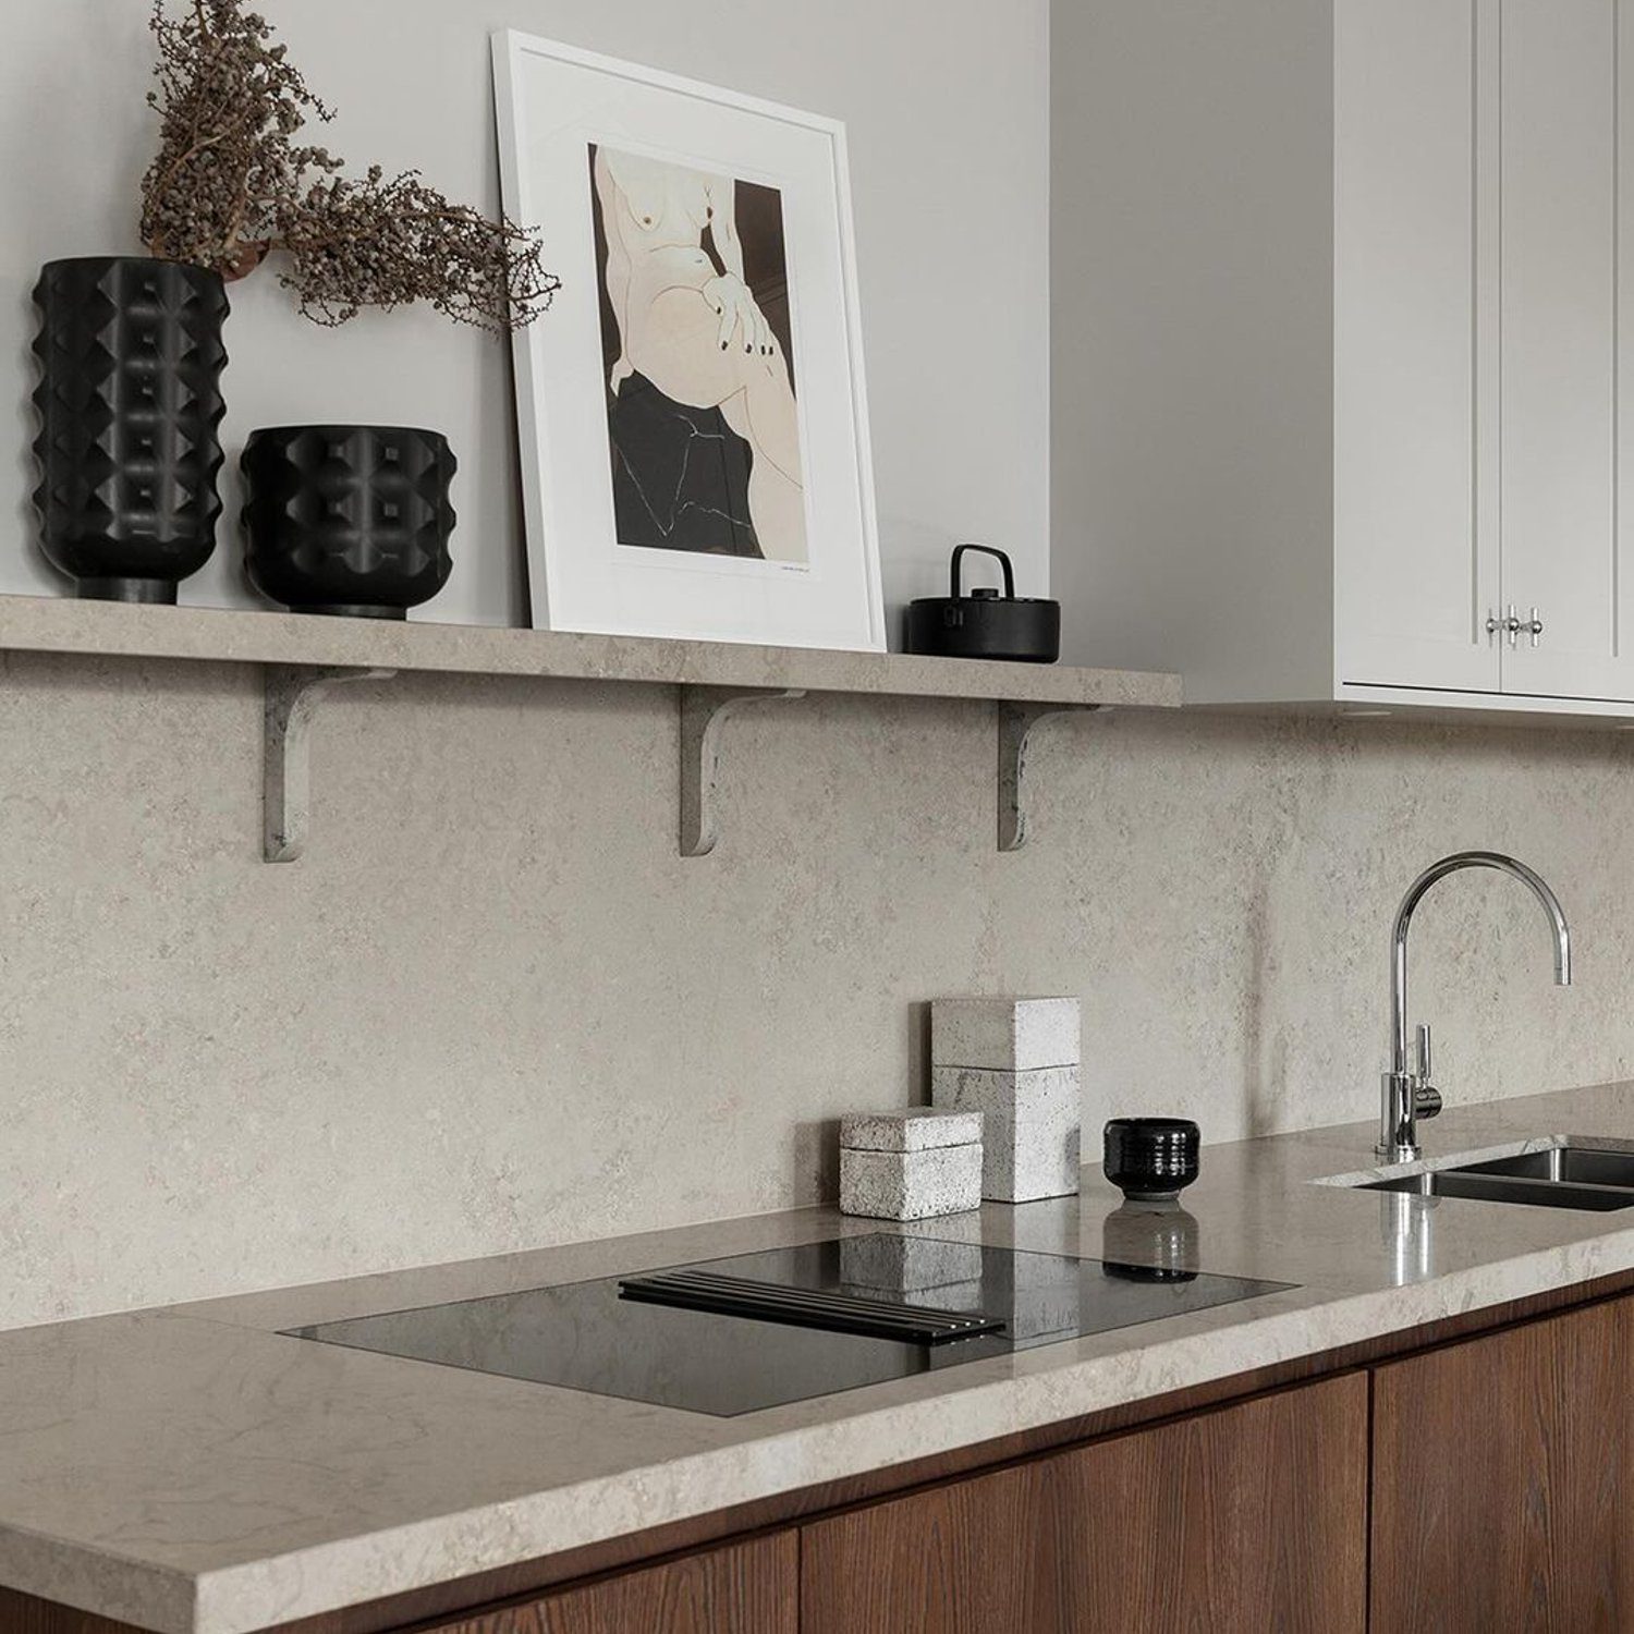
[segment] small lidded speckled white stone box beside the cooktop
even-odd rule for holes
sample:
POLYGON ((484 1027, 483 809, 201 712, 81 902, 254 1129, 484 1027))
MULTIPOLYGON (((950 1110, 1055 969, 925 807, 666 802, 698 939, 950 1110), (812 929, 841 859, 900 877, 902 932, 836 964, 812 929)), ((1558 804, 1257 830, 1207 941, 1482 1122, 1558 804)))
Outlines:
POLYGON ((879 1221, 961 1214, 982 1203, 982 1118, 922 1106, 840 1121, 840 1212, 879 1221))

